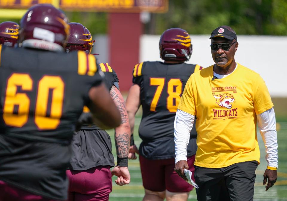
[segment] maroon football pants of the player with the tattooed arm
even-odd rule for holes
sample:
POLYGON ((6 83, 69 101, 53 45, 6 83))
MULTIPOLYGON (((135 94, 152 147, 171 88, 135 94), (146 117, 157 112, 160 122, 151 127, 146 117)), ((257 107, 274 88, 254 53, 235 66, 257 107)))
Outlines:
POLYGON ((97 166, 84 171, 67 170, 70 180, 68 201, 108 201, 112 192, 110 166, 97 166))

